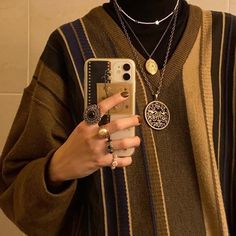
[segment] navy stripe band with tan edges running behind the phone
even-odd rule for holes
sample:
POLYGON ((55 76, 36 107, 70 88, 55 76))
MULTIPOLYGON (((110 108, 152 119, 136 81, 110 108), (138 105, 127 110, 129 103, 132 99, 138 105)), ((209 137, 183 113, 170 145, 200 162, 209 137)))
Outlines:
MULTIPOLYGON (((78 82, 82 88, 84 83, 84 61, 88 58, 95 57, 95 53, 87 37, 86 28, 82 20, 76 20, 62 26, 60 30, 68 44, 71 59, 77 70, 78 82)), ((93 82, 95 84, 95 81, 93 82)), ((104 205, 104 232, 105 235, 118 235, 119 233, 122 236, 129 236, 132 235, 132 220, 130 217, 131 209, 125 169, 116 170, 114 176, 115 181, 113 182, 110 168, 100 170, 101 192, 104 205)))

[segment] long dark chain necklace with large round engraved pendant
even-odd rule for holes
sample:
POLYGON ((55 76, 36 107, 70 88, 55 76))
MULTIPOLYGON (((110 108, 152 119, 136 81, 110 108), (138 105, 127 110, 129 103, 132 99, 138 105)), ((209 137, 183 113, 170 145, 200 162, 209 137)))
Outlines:
MULTIPOLYGON (((166 106, 166 104, 164 104, 163 102, 159 101, 159 95, 160 95, 160 92, 161 92, 161 88, 162 88, 162 84, 163 84, 163 79, 164 79, 164 75, 165 75, 165 70, 166 70, 168 59, 169 59, 170 49, 171 49, 171 45, 172 45, 173 37, 174 37, 174 33, 175 33, 175 28, 176 28, 176 23, 177 23, 177 16, 178 16, 178 10, 179 10, 179 4, 178 3, 179 3, 179 0, 177 2, 176 9, 171 14, 171 15, 173 15, 173 17, 170 20, 169 26, 167 26, 167 28, 170 27, 170 25, 171 25, 171 23, 173 21, 173 25, 172 25, 172 29, 171 29, 171 33, 170 33, 170 38, 169 38, 169 42, 168 42, 168 46, 167 46, 167 50, 166 50, 165 60, 164 60, 164 64, 163 64, 163 67, 162 67, 162 70, 161 70, 161 74, 160 74, 160 81, 159 81, 159 84, 158 84, 157 89, 155 91, 155 88, 153 88, 152 84, 148 80, 146 72, 144 71, 144 68, 141 65, 141 62, 139 60, 139 56, 137 55, 137 52, 136 52, 134 46, 132 45, 130 36, 129 36, 127 28, 126 28, 126 25, 129 28, 131 28, 131 27, 129 26, 127 21, 125 21, 124 18, 122 17, 120 9, 119 9, 119 6, 118 6, 116 0, 113 0, 115 11, 116 11, 117 16, 119 18, 119 21, 121 23, 122 29, 123 29, 123 31, 125 33, 125 36, 126 36, 126 38, 128 40, 128 43, 129 43, 129 45, 130 45, 130 47, 132 49, 132 53, 134 55, 134 58, 136 59, 136 61, 138 63, 138 67, 139 67, 140 72, 142 74, 142 77, 144 78, 144 80, 145 80, 145 82, 146 82, 146 84, 147 84, 147 86, 148 86, 148 88, 149 88, 149 90, 150 90, 150 92, 151 92, 151 94, 153 96, 153 101, 149 102, 146 105, 146 107, 145 107, 144 117, 145 117, 145 120, 146 120, 147 124, 152 129, 155 129, 155 130, 163 130, 163 129, 165 129, 168 126, 169 122, 170 122, 170 111, 169 111, 168 107, 166 106), (126 23, 126 25, 125 25, 125 23, 126 23)), ((168 31, 168 29, 165 30, 164 34, 166 34, 167 31, 168 31)), ((133 30, 131 30, 131 32, 135 35, 133 30)), ((161 37, 161 40, 163 38, 164 37, 161 37)))

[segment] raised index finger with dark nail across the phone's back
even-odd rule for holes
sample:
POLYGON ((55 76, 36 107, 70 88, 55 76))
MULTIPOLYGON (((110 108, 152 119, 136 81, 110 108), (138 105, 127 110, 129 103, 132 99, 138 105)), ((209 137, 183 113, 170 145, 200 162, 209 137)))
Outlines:
POLYGON ((101 116, 105 115, 110 109, 114 106, 124 102, 129 97, 129 93, 127 91, 116 93, 101 102, 98 103, 100 107, 101 116))

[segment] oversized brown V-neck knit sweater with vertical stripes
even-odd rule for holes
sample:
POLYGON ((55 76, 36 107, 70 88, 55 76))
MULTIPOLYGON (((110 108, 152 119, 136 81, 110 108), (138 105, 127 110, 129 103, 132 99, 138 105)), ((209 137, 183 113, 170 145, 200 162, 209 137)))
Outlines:
MULTIPOLYGON (((97 57, 133 58, 124 34, 101 7, 83 17, 82 24, 97 57)), ((235 132, 235 113, 227 126, 221 112, 232 114, 232 110, 225 109, 229 107, 221 88, 225 88, 222 77, 235 86, 235 55, 225 52, 227 47, 235 50, 235 28, 230 28, 234 24, 235 18, 229 15, 190 6, 184 35, 167 64, 160 95, 171 112, 168 128, 156 132, 143 124, 137 129, 142 145, 130 167, 115 173, 104 168, 66 183, 60 192, 48 189, 47 164, 76 126, 71 112, 74 104, 77 121, 82 120, 83 96, 64 31, 53 32, 24 91, 3 150, 0 207, 5 214, 28 235, 100 236, 112 231, 122 236, 215 236, 228 235, 228 226, 233 234, 235 203, 229 196, 235 193, 235 172, 228 178, 225 173, 234 170, 235 153, 228 153, 228 165, 221 166, 226 160, 222 149, 229 150, 230 144, 231 149, 235 147, 235 135, 227 136, 230 140, 222 138, 226 129, 235 132), (227 33, 230 30, 233 39, 227 33), (230 61, 227 67, 223 67, 224 59, 230 61), (116 179, 120 171, 126 182, 128 233, 121 230, 118 193, 123 185, 116 179), (111 178, 103 179, 106 174, 111 178), (108 193, 103 187, 109 181, 113 189, 105 190, 114 195, 114 205, 104 197, 108 193)), ((144 62, 140 54, 139 60, 144 62)), ((156 84, 159 77, 148 79, 156 84)), ((235 99, 235 90, 230 91, 228 102, 235 99)), ((137 113, 142 115, 151 99, 137 71, 137 113)))

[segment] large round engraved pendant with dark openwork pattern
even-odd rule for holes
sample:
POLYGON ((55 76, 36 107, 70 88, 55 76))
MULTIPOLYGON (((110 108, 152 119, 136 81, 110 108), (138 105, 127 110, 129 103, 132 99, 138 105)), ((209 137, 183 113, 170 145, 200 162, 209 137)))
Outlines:
POLYGON ((170 111, 163 102, 155 100, 147 104, 144 117, 151 128, 162 130, 165 129, 170 122, 170 111))

